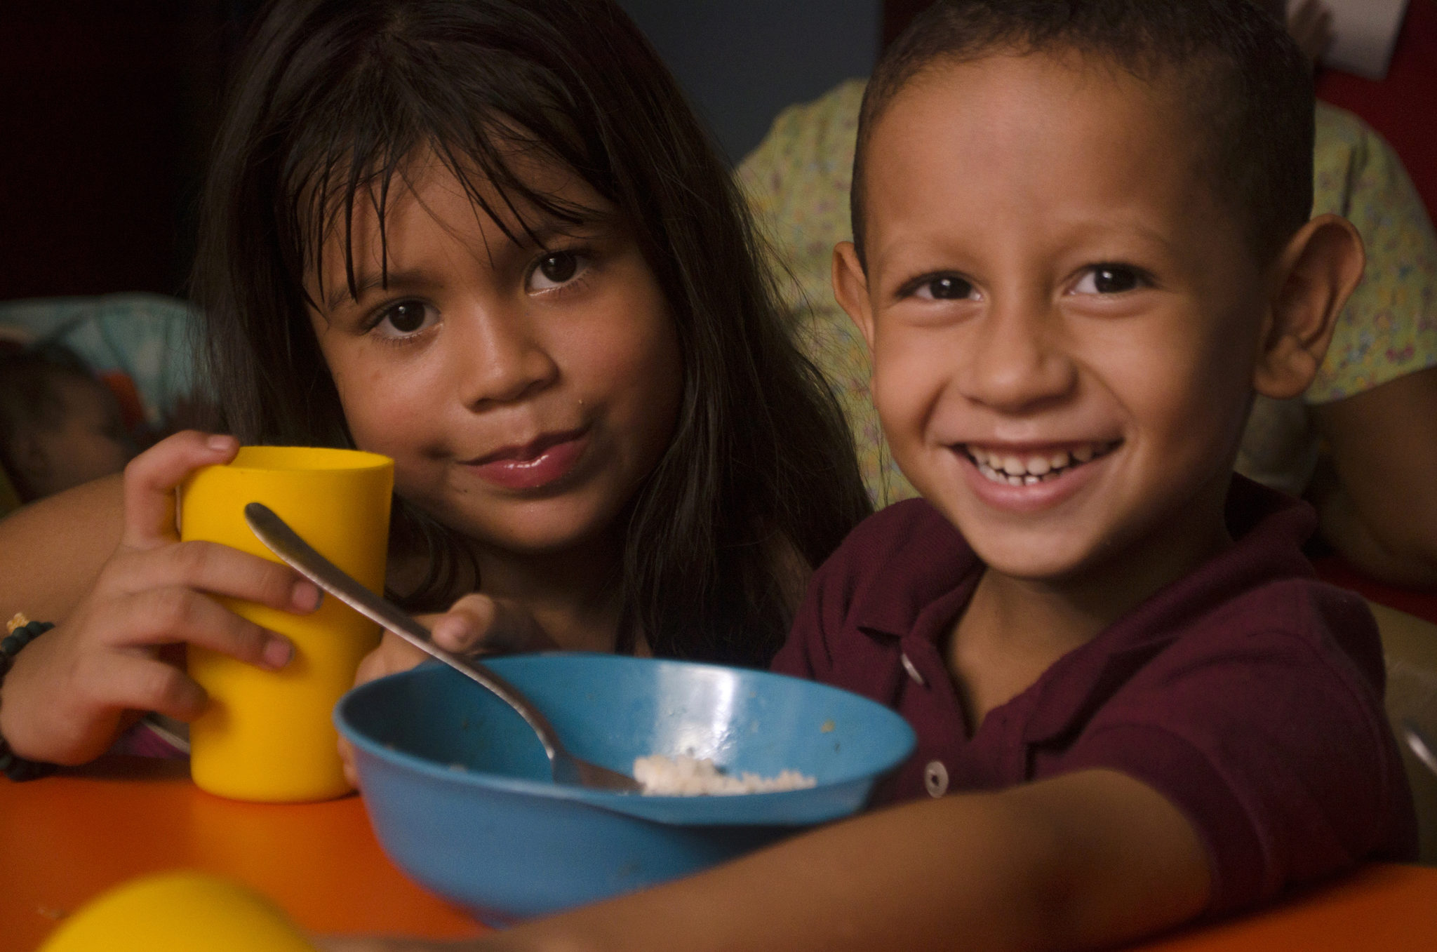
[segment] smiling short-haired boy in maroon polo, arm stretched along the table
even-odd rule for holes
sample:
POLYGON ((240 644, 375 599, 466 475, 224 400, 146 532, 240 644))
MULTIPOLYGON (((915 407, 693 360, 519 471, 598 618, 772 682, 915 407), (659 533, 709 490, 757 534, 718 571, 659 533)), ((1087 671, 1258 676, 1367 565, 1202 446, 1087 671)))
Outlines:
POLYGON ((912 24, 833 283, 924 498, 819 569, 775 662, 910 719, 895 806, 483 948, 1106 946, 1415 854, 1371 615, 1312 577, 1312 511, 1232 474, 1362 270, 1308 221, 1312 109, 1249 0, 912 24))

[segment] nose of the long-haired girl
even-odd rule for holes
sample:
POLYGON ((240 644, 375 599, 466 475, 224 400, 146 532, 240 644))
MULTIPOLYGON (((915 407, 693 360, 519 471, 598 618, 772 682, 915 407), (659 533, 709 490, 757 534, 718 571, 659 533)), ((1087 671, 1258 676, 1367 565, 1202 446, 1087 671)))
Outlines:
POLYGON ((450 360, 470 408, 525 399, 559 378, 558 363, 520 309, 474 309, 453 339, 450 360))

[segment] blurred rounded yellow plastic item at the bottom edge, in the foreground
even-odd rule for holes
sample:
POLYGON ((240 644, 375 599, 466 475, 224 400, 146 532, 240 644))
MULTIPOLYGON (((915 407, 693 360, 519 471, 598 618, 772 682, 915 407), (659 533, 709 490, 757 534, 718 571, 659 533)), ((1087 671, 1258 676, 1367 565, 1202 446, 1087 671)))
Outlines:
POLYGON ((315 952, 279 906, 205 873, 157 873, 86 903, 40 952, 315 952))

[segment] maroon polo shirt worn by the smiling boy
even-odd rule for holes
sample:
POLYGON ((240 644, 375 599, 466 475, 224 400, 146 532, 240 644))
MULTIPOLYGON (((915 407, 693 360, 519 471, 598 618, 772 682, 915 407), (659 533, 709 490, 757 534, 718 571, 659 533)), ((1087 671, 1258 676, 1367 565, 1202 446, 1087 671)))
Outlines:
POLYGON ((1371 612, 1313 579, 1305 503, 1237 477, 1227 523, 1232 549, 1059 658, 977 731, 944 655, 983 566, 923 500, 872 515, 823 563, 773 669, 908 719, 918 747, 879 803, 1088 768, 1141 780, 1203 839, 1213 912, 1361 859, 1414 859, 1371 612))

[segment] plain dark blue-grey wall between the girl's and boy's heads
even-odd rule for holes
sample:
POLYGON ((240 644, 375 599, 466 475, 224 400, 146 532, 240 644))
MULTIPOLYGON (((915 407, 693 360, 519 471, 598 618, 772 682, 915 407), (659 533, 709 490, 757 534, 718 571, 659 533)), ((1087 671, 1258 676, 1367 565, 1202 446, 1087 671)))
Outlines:
POLYGON ((878 56, 879 0, 619 0, 737 162, 779 109, 878 56))

